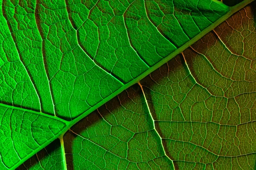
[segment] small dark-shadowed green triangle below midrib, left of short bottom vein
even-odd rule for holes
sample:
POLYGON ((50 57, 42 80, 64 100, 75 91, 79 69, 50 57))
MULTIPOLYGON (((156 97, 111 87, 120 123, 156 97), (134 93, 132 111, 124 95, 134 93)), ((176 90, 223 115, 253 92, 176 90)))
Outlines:
POLYGON ((36 155, 25 161, 17 170, 63 170, 61 144, 58 139, 53 141, 36 155), (40 164, 38 164, 40 161, 40 164))

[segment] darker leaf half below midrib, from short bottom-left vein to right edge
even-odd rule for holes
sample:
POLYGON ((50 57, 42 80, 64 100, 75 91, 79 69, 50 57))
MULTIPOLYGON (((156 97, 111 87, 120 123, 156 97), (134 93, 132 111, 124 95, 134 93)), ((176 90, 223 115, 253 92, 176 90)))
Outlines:
POLYGON ((67 169, 254 170, 255 6, 70 128, 67 169))

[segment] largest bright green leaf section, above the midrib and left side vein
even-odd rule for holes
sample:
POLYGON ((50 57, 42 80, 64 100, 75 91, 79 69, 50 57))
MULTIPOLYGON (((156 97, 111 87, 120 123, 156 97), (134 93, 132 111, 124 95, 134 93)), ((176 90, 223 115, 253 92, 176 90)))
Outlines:
POLYGON ((72 120, 228 12, 211 0, 0 1, 0 102, 72 120))

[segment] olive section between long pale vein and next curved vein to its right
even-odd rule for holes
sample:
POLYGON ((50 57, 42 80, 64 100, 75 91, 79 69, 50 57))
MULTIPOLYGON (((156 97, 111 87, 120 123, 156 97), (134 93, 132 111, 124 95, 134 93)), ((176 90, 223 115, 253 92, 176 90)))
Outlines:
MULTIPOLYGON (((192 57, 185 52, 185 59, 192 57)), ((141 84, 176 169, 255 168, 254 93, 230 98, 210 94, 195 81, 182 55, 141 84)))

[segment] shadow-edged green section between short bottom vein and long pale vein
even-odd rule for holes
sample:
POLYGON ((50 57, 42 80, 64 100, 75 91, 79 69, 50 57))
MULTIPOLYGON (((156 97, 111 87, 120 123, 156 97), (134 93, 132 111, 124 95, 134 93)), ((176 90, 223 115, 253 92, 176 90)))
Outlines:
POLYGON ((173 169, 140 86, 90 113, 64 135, 67 169, 173 169))

